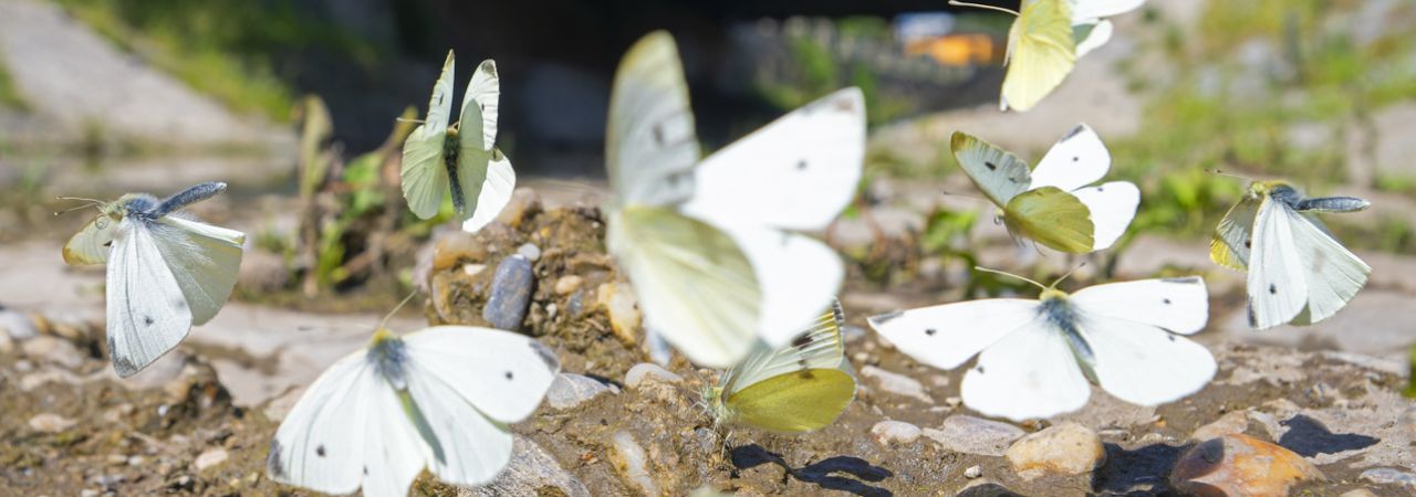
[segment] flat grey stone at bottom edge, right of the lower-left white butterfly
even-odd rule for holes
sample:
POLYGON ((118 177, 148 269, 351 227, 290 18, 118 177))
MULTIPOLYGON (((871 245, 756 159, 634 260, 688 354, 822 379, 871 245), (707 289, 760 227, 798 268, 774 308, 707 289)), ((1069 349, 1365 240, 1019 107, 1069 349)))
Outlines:
POLYGON ((569 497, 589 497, 590 491, 575 474, 561 467, 541 445, 531 439, 515 436, 511 445, 511 462, 491 483, 459 489, 459 497, 493 496, 538 496, 545 487, 559 489, 569 497))

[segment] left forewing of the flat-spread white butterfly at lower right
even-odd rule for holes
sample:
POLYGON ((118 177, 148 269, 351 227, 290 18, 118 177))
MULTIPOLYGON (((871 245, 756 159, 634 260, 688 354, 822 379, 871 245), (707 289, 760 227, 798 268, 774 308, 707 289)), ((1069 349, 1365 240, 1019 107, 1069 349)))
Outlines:
POLYGON ((1038 301, 994 298, 891 312, 867 321, 899 352, 952 370, 1037 316, 1038 301))

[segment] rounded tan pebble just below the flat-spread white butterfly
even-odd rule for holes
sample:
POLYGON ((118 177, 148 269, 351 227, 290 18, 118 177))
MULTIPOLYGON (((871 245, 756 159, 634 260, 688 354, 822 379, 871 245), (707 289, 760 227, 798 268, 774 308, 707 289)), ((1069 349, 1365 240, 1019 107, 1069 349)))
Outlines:
POLYGON ((1075 422, 1048 426, 1024 436, 1004 453, 1024 480, 1046 474, 1086 474, 1106 459, 1102 438, 1075 422))

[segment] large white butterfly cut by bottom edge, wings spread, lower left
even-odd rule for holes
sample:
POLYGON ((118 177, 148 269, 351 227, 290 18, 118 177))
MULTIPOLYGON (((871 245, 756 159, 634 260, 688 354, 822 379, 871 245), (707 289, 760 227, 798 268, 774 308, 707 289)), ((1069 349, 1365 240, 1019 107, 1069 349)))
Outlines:
POLYGON ((510 422, 541 404, 561 366, 549 349, 489 328, 374 333, 330 366, 270 441, 270 479, 327 494, 406 496, 428 467, 450 484, 491 481, 511 459, 510 422))

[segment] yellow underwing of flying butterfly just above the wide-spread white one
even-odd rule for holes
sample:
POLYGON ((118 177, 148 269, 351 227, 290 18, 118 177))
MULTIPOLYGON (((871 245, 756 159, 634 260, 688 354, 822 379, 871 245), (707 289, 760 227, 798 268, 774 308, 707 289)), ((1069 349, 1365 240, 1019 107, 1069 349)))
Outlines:
POLYGON ((1056 186, 1029 189, 1003 209, 1003 222, 1054 250, 1085 254, 1095 246, 1092 209, 1056 186))

